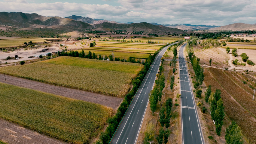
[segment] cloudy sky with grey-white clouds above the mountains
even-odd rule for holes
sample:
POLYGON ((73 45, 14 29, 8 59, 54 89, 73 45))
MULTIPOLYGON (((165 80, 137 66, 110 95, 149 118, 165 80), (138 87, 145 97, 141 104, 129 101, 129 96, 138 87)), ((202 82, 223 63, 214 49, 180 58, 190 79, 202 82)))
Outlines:
POLYGON ((228 25, 256 23, 256 0, 0 0, 0 11, 80 15, 117 22, 228 25))

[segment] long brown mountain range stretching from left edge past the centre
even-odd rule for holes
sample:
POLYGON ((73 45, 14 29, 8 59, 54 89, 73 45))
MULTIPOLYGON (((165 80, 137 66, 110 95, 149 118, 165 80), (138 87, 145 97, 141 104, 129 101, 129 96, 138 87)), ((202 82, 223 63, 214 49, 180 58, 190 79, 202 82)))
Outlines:
POLYGON ((61 18, 58 16, 47 17, 36 13, 0 12, 0 24, 20 28, 63 28, 68 30, 98 30, 98 31, 143 31, 144 33, 158 34, 184 34, 185 31, 177 28, 169 28, 162 25, 152 25, 146 22, 121 24, 102 19, 83 18, 82 16, 70 16, 61 18), (72 19, 71 19, 72 18, 72 19), (78 19, 78 20, 74 20, 78 19), (88 22, 88 23, 87 23, 88 22), (90 24, 89 24, 90 23, 90 24))

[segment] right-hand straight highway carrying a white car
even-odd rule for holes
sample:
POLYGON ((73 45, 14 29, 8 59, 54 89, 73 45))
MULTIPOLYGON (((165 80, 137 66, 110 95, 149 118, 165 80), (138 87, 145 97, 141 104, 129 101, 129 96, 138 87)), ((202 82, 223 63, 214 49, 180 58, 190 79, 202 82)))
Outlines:
POLYGON ((179 50, 179 69, 182 67, 182 70, 180 70, 182 141, 183 144, 204 144, 195 99, 188 76, 188 68, 183 55, 185 47, 186 43, 179 50))

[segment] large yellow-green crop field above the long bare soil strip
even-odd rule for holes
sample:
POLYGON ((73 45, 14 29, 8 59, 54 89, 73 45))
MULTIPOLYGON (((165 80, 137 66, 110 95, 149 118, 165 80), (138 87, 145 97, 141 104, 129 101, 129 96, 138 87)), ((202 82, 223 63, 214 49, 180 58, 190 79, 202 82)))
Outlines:
MULTIPOLYGON (((134 53, 140 54, 140 53, 134 53)), ((0 68, 0 73, 52 85, 123 97, 142 64, 61 56, 0 68)))

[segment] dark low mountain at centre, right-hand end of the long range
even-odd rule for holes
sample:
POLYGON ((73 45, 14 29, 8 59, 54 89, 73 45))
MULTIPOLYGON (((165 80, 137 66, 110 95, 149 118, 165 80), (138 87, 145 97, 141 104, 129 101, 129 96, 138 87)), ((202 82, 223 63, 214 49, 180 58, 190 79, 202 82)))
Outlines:
POLYGON ((132 24, 115 24, 104 22, 102 24, 95 24, 95 30, 98 31, 115 31, 115 30, 126 30, 126 31, 144 31, 146 33, 176 33, 185 34, 185 31, 177 28, 168 28, 162 25, 152 25, 147 22, 132 23, 132 24))

